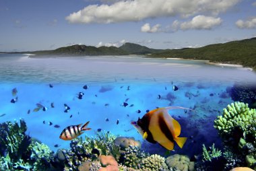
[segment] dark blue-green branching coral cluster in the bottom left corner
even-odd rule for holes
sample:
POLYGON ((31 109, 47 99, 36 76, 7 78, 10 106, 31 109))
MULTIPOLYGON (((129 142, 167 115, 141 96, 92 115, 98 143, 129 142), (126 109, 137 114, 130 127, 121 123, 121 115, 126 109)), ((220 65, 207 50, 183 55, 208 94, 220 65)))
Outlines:
POLYGON ((53 151, 25 134, 24 120, 0 125, 0 170, 51 170, 53 151))

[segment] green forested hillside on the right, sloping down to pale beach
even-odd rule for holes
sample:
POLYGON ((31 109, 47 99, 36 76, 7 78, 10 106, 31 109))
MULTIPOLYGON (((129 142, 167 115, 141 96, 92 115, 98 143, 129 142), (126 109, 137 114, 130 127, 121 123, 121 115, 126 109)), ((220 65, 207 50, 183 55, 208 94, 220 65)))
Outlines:
POLYGON ((201 48, 183 48, 153 53, 150 57, 203 59, 218 63, 230 63, 256 69, 256 38, 210 44, 201 48))

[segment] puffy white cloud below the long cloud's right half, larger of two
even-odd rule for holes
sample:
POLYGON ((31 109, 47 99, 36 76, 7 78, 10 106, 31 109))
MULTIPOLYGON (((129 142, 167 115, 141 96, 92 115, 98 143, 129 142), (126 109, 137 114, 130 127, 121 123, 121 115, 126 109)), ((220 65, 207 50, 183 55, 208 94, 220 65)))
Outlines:
POLYGON ((211 30, 215 26, 220 26, 220 24, 222 24, 222 20, 220 18, 197 15, 191 21, 181 23, 180 28, 182 30, 211 30))

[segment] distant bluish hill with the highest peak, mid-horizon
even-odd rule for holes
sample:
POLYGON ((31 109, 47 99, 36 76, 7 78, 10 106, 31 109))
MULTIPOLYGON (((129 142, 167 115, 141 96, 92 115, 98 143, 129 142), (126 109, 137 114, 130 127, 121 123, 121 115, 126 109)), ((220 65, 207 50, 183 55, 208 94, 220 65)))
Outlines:
POLYGON ((158 53, 163 51, 160 49, 148 48, 146 46, 141 46, 139 44, 134 44, 129 42, 123 44, 119 48, 127 51, 127 53, 129 53, 130 55, 147 55, 147 54, 158 53))

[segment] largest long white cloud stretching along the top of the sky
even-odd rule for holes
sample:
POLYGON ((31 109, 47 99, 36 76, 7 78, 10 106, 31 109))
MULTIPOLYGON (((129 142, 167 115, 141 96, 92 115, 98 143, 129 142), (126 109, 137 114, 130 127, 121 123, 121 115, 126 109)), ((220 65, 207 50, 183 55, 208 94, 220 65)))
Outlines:
POLYGON ((225 12, 241 0, 127 0, 111 5, 88 5, 66 17, 69 23, 137 22, 147 18, 179 15, 189 17, 207 12, 225 12))

